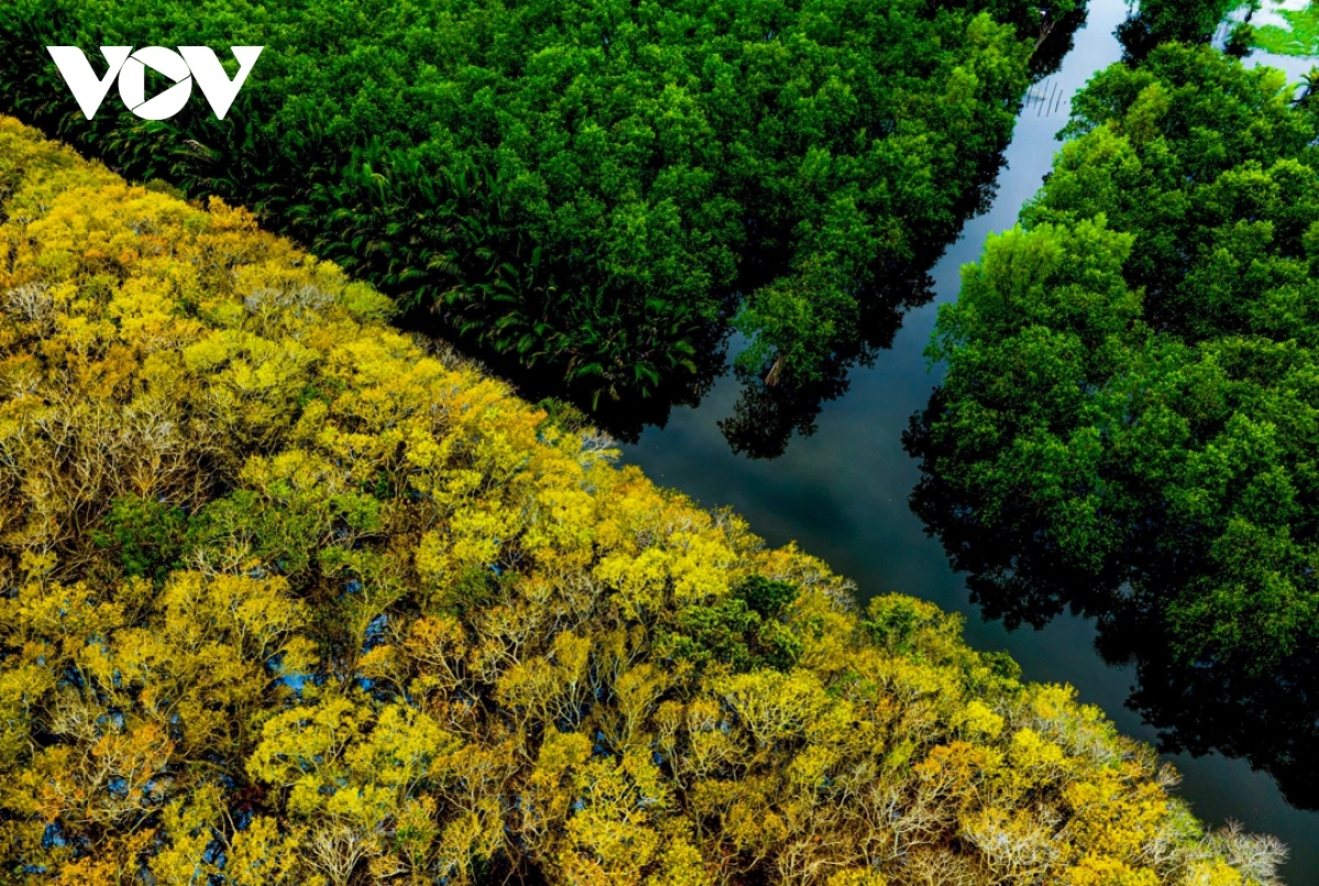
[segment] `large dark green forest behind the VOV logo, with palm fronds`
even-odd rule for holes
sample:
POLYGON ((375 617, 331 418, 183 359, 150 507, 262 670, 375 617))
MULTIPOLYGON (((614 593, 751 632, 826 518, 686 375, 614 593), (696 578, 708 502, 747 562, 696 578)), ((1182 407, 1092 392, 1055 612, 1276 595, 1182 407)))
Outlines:
POLYGON ((731 323, 752 382, 864 357, 980 199, 1041 12, 1074 5, 17 0, 0 109, 251 206, 594 407, 699 392, 731 323), (113 94, 87 121, 44 47, 119 44, 266 49, 224 121, 113 94))

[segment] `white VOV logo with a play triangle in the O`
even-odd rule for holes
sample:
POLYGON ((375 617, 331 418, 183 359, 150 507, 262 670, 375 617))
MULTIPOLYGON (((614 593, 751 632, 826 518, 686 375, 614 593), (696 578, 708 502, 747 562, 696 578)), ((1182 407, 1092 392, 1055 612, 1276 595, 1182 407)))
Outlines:
POLYGON ((106 76, 96 76, 87 57, 77 46, 46 46, 88 120, 96 115, 96 108, 106 99, 116 76, 124 107, 144 120, 168 120, 182 111, 193 95, 193 80, 202 87, 202 95, 211 104, 215 116, 223 120, 262 49, 230 46, 233 58, 239 59, 239 73, 231 80, 220 66, 220 59, 207 46, 179 46, 177 53, 164 46, 144 46, 136 53, 132 46, 102 46, 100 54, 109 66, 106 76), (174 86, 148 99, 148 67, 174 80, 174 86))

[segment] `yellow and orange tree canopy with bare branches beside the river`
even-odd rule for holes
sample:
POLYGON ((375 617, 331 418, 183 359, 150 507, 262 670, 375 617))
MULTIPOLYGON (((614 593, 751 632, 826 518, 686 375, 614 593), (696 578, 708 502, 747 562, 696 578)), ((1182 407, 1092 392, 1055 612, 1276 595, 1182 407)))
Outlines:
POLYGON ((1258 886, 955 617, 0 119, 0 879, 1258 886))

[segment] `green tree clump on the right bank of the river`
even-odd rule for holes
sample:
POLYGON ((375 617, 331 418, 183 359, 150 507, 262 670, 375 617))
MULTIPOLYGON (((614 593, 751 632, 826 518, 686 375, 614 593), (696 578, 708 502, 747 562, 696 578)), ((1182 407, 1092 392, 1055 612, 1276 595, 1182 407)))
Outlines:
POLYGON ((1072 109, 940 311, 915 508, 992 613, 1145 657, 1171 746, 1319 804, 1319 108, 1166 45, 1072 109))

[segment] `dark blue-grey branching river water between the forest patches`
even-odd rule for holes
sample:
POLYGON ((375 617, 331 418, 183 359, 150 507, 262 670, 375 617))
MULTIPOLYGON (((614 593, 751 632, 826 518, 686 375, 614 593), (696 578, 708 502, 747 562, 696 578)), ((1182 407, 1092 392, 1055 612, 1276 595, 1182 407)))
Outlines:
MULTIPOLYGON (((964 577, 952 572, 938 539, 926 537, 907 508, 918 472, 901 447, 907 419, 925 407, 939 378, 938 369, 926 370, 922 355, 936 305, 956 298, 960 266, 979 258, 989 232, 1012 227, 1021 204, 1039 189, 1058 148, 1054 134, 1066 123, 1068 98, 1095 71, 1119 59, 1121 49, 1112 32, 1125 15, 1124 0, 1091 0, 1072 51, 1057 74, 1033 88, 1017 121, 991 210, 964 225, 931 272, 934 303, 909 312, 893 347, 872 368, 852 373, 851 390, 824 405, 814 436, 793 439, 787 452, 772 461, 733 455, 716 426, 739 394, 737 384, 724 377, 699 407, 675 409, 666 427, 652 427, 637 444, 624 447, 624 460, 702 505, 731 505, 773 545, 798 542, 856 580, 863 597, 901 591, 963 613, 971 645, 1006 649, 1026 679, 1070 683, 1083 701, 1103 707, 1124 733, 1153 742, 1155 730, 1124 707, 1136 680, 1134 666, 1104 663, 1095 651, 1091 620, 1062 616, 1042 630, 1016 632, 981 621, 964 577)), ((1311 65, 1310 59, 1260 54, 1253 61, 1283 67, 1293 80, 1311 65)), ((1245 761, 1220 754, 1170 754, 1167 759, 1183 774, 1179 792, 1198 816, 1212 824, 1232 819, 1249 831, 1278 836, 1291 848, 1286 882, 1319 885, 1319 812, 1287 806, 1274 781, 1252 771, 1245 761)))

